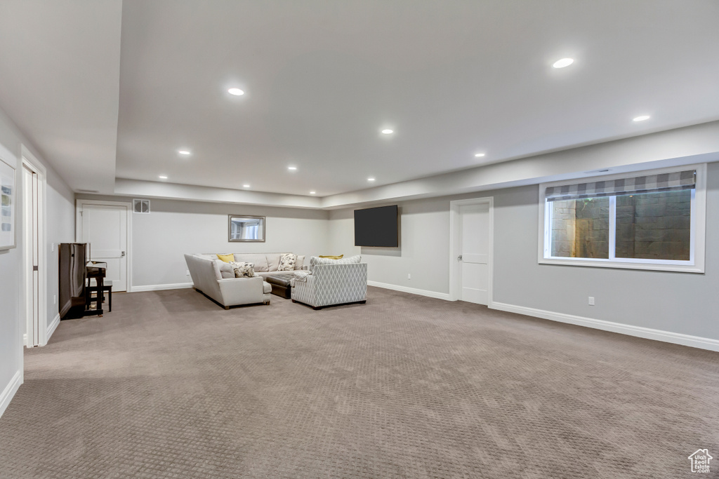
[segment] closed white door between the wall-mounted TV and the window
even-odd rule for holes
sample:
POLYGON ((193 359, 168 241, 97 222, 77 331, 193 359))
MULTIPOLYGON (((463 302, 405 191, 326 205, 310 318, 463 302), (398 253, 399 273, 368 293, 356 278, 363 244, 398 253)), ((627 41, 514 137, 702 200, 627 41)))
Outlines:
POLYGON ((459 206, 459 274, 462 301, 487 304, 490 284, 490 206, 459 206))

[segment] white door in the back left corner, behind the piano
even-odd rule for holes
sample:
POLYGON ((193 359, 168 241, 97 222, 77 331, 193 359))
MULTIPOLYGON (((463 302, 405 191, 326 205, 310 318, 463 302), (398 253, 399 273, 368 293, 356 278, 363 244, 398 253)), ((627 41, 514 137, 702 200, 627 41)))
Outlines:
POLYGON ((89 243, 91 261, 107 263, 112 291, 127 291, 127 206, 83 203, 80 242, 89 243))

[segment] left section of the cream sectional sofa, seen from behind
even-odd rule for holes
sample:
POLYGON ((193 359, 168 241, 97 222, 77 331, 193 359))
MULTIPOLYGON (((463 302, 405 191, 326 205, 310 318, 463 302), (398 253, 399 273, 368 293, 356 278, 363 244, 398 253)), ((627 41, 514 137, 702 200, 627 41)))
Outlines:
POLYGON ((195 289, 219 302, 226 310, 237 304, 270 304, 272 287, 262 276, 223 278, 215 260, 204 255, 186 254, 185 261, 195 289))

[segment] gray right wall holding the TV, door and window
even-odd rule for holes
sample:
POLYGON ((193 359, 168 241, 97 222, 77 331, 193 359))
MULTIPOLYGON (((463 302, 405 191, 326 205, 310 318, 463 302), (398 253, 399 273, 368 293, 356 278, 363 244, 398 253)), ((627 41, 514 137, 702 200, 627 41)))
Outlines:
POLYGON ((495 302, 719 339, 719 162, 707 172, 705 274, 539 264, 538 195, 533 185, 400 203, 393 250, 353 246, 352 209, 332 211, 331 251, 361 251, 371 281, 448 293, 449 201, 493 196, 495 302))

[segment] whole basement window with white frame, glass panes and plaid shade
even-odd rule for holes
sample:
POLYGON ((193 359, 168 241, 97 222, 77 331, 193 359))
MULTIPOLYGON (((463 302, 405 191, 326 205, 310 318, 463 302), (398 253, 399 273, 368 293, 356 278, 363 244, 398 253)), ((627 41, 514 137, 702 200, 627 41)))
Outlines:
POLYGON ((539 185, 539 262, 704 272, 706 164, 539 185))

